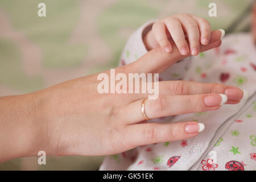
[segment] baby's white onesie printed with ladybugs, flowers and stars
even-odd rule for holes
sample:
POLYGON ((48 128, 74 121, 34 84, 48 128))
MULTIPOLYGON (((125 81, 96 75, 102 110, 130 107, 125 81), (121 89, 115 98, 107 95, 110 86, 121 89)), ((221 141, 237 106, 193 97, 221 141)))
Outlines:
MULTIPOLYGON (((121 56, 129 64, 147 52, 142 35, 152 22, 130 36, 121 56)), ((159 80, 216 82, 238 86, 250 97, 216 111, 182 114, 155 122, 196 121, 205 130, 193 138, 139 146, 106 156, 100 170, 255 170, 256 169, 256 52, 250 34, 232 34, 222 45, 184 59, 163 73, 159 80)), ((152 60, 157 61, 157 60, 152 60)))

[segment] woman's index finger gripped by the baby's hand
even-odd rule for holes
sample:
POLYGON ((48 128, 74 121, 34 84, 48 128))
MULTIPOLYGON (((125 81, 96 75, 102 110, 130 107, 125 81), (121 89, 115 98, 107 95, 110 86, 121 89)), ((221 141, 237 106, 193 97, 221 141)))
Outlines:
MULTIPOLYGON (((206 46, 200 45, 200 52, 208 51, 209 49, 220 46, 222 36, 222 31, 212 31, 209 44, 206 46)), ((185 56, 181 55, 175 43, 171 41, 171 44, 173 47, 171 53, 164 52, 160 46, 152 49, 140 57, 137 61, 130 64, 130 68, 132 70, 131 72, 161 73, 171 65, 175 64, 177 61, 191 56, 191 54, 185 56)))

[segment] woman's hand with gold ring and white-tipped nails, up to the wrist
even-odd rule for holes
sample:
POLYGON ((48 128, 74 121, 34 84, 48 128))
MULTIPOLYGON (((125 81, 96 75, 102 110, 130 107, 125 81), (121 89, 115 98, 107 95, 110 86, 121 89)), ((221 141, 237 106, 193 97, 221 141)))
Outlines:
MULTIPOLYGON (((208 46, 220 45, 221 32, 214 31, 208 46)), ((115 69, 117 73, 159 73, 183 59, 172 42, 172 53, 153 49, 134 63, 115 69)), ((109 71, 105 72, 110 75, 109 71)), ((195 137, 197 122, 144 123, 141 106, 148 94, 100 94, 97 76, 67 81, 34 93, 36 113, 44 113, 49 154, 109 155, 157 142, 195 137)), ((220 108, 220 94, 228 96, 229 104, 237 104, 243 91, 233 86, 203 84, 189 81, 159 82, 157 100, 147 100, 146 115, 159 118, 167 115, 198 113, 220 108)), ((225 101, 224 101, 225 102, 225 101)), ((43 134, 46 135, 46 134, 43 134)))

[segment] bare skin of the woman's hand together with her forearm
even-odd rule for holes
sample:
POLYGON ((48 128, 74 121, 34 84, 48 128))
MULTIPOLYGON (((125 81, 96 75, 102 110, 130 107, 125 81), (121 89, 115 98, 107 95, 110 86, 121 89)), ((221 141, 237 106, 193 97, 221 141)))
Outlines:
MULTIPOLYGON (((220 37, 220 31, 211 32, 209 43, 199 44, 200 51, 220 46, 220 37)), ((115 73, 161 73, 191 56, 189 53, 181 55, 173 40, 170 45, 171 52, 166 53, 157 46, 137 61, 116 68, 115 73)), ((104 73, 110 74, 109 71, 104 73)), ((58 156, 110 155, 144 144, 198 134, 199 126, 193 121, 144 122, 141 104, 147 94, 100 94, 97 92, 100 82, 97 76, 76 78, 38 92, 0 97, 0 162, 34 156, 40 150, 58 156), (186 126, 193 126, 196 131, 187 133, 186 126)), ((237 104, 243 96, 242 90, 234 86, 190 81, 159 82, 159 97, 146 101, 146 114, 158 118, 217 110, 220 93, 228 96, 227 104, 237 104), (205 102, 205 97, 209 96, 216 98, 214 106, 208 106, 209 99, 208 104, 205 102)))

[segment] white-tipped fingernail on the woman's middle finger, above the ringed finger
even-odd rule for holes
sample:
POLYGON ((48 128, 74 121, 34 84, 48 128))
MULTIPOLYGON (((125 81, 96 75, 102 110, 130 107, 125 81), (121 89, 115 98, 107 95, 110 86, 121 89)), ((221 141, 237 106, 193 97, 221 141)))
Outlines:
POLYGON ((249 97, 249 93, 246 90, 241 89, 225 89, 224 94, 228 96, 228 100, 232 101, 242 101, 249 97))

